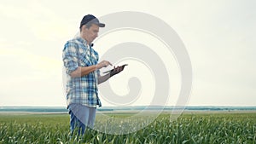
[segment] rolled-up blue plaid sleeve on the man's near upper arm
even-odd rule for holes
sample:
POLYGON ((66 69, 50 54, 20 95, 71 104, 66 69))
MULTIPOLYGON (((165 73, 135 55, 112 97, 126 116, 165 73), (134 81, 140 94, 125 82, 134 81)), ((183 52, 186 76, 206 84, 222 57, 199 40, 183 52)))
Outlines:
POLYGON ((75 43, 67 42, 62 51, 62 60, 69 75, 79 67, 77 47, 75 43))

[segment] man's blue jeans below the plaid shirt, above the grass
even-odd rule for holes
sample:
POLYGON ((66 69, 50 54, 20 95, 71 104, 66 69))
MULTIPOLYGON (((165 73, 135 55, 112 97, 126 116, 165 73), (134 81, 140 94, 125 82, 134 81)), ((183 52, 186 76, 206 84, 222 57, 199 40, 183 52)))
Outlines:
POLYGON ((91 129, 93 128, 96 118, 96 107, 86 107, 79 104, 71 104, 68 106, 68 110, 72 135, 75 129, 79 130, 79 135, 84 135, 87 126, 91 129))

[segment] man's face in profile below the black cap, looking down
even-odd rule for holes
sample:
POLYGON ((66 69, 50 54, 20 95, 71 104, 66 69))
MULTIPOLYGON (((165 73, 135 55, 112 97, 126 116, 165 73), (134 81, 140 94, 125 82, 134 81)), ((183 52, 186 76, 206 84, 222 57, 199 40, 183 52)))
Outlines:
POLYGON ((96 37, 98 37, 99 26, 92 24, 88 29, 85 25, 83 26, 82 37, 87 41, 87 43, 91 43, 94 41, 96 37))

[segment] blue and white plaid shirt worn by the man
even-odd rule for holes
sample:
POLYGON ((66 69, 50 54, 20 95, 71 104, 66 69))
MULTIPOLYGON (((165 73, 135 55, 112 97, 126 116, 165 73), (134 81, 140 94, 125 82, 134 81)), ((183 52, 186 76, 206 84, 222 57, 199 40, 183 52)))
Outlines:
POLYGON ((96 65, 98 59, 98 53, 82 37, 76 37, 65 44, 62 60, 67 73, 67 107, 70 104, 101 107, 97 88, 99 71, 90 72, 83 77, 70 77, 79 66, 96 65))

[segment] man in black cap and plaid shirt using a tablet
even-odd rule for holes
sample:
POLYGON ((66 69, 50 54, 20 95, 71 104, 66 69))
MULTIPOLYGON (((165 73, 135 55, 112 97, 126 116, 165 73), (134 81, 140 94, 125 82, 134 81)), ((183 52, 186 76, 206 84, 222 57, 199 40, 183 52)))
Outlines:
POLYGON ((79 128, 79 134, 83 135, 86 126, 93 127, 96 106, 102 106, 97 84, 105 82, 124 69, 124 66, 118 66, 105 76, 99 75, 99 69, 112 66, 108 60, 98 63, 98 53, 92 48, 99 27, 104 26, 94 15, 85 15, 79 27, 80 36, 67 41, 63 49, 62 60, 67 73, 67 108, 72 134, 75 128, 79 128))

